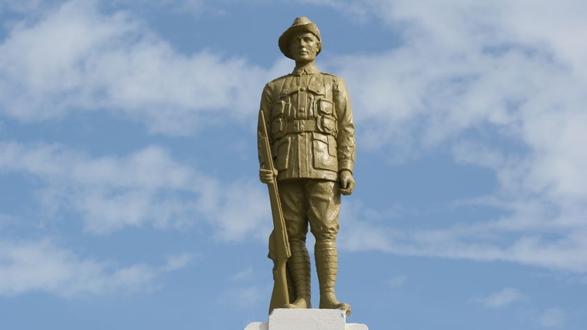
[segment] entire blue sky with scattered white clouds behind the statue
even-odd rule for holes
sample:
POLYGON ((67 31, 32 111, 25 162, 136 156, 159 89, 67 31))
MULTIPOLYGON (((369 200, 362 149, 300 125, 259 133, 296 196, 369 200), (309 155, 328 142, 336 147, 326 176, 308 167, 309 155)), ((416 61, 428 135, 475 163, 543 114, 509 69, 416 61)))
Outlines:
MULTIPOLYGON (((357 130, 338 296, 370 329, 586 329, 584 1, 0 3, 0 328, 267 318, 277 38, 357 130)), ((314 275, 313 300, 317 304, 314 275)))

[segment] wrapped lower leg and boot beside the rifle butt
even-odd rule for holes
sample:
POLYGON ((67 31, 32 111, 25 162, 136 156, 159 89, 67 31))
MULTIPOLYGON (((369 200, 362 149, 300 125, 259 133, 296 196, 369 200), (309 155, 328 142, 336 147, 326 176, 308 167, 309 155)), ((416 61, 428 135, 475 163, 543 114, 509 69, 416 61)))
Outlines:
POLYGON ((312 308, 310 302, 310 256, 305 244, 290 243, 291 257, 287 267, 291 274, 293 286, 296 288, 296 300, 284 308, 312 308))

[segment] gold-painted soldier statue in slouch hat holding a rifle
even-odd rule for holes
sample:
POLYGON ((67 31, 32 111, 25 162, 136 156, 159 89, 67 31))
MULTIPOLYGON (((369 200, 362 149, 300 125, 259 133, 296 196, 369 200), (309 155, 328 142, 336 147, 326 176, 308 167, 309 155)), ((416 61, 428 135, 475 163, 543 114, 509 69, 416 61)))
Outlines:
POLYGON ((335 296, 335 238, 340 194, 351 194, 355 187, 351 102, 345 81, 320 72, 314 63, 322 48, 316 24, 296 18, 280 36, 279 47, 296 61, 296 68, 263 89, 258 130, 259 177, 269 185, 275 223, 269 242, 269 257, 275 261, 270 311, 311 308, 305 246, 310 224, 316 239, 319 307, 341 308, 349 315, 351 307, 335 296), (282 278, 287 278, 287 287, 282 278))

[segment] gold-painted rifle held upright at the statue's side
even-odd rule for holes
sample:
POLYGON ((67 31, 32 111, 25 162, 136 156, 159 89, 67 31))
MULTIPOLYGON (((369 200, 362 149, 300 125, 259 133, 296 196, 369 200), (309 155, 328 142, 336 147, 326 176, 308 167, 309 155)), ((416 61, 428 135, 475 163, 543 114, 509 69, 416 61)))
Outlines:
MULTIPOLYGON (((275 173, 275 166, 273 166, 273 156, 271 155, 271 147, 267 134, 267 126, 265 124, 265 114, 263 110, 259 110, 259 147, 261 157, 263 157, 263 168, 275 173)), ((267 184, 269 189, 269 201, 271 203, 271 213, 273 214, 273 233, 271 233, 270 240, 273 239, 273 247, 275 253, 273 255, 273 293, 271 294, 271 302, 269 305, 269 314, 274 308, 282 308, 289 301, 289 292, 287 289, 287 259, 291 257, 289 250, 289 239, 287 238, 287 231, 285 228, 285 220, 280 202, 280 194, 277 191, 277 182, 275 178, 267 184)))

